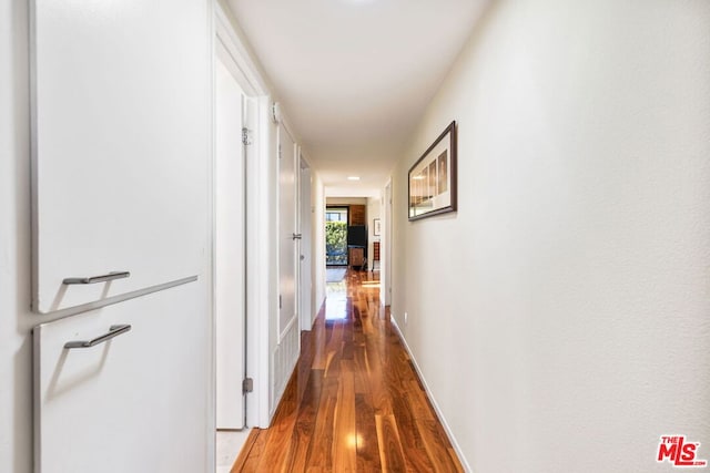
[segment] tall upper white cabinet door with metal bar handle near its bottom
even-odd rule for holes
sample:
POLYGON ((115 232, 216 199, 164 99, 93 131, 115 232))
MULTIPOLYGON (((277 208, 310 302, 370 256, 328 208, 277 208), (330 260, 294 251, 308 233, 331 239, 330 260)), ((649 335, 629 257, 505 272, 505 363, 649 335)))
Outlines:
POLYGON ((207 2, 31 4, 34 309, 199 275, 207 2))

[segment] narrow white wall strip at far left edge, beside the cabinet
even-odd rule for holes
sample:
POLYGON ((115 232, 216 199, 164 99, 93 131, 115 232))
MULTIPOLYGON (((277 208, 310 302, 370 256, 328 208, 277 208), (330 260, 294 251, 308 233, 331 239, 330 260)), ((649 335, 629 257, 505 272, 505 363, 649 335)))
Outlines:
POLYGON ((32 471, 27 2, 0 3, 0 471, 32 471))

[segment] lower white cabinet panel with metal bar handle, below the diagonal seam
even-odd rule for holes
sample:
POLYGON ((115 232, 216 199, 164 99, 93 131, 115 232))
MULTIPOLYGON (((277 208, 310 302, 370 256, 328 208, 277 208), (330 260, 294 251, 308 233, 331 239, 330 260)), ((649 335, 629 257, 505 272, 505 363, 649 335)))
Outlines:
POLYGON ((36 473, 205 471, 203 295, 190 284, 34 328, 36 473))

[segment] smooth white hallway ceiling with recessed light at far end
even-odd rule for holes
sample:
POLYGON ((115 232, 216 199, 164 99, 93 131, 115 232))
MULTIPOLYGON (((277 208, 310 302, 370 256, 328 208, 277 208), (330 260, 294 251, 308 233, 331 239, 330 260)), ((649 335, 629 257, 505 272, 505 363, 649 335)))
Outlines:
POLYGON ((486 2, 229 0, 328 194, 353 196, 384 186, 486 2))

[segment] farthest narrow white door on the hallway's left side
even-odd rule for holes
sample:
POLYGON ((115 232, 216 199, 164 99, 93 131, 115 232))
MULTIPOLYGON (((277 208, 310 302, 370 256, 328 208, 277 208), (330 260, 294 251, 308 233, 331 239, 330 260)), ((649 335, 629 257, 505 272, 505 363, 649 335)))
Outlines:
POLYGON ((301 245, 298 251, 298 286, 301 288, 301 330, 311 330, 313 326, 313 266, 312 266, 312 216, 313 207, 311 202, 311 167, 300 156, 301 163, 301 198, 300 198, 300 232, 301 245))

